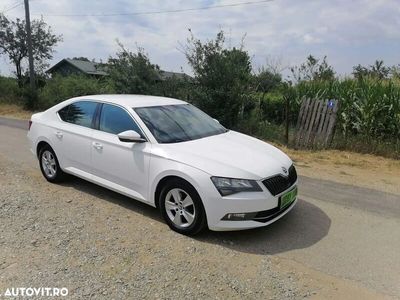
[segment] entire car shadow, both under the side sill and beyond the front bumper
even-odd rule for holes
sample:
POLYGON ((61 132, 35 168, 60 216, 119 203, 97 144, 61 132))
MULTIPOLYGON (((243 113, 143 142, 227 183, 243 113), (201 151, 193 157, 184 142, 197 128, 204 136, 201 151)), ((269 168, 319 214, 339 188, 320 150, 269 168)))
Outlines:
MULTIPOLYGON (((86 180, 71 177, 62 185, 164 223, 157 209, 86 180)), ((277 254, 316 244, 328 234, 330 226, 331 219, 324 211, 312 203, 299 199, 288 214, 266 227, 244 231, 205 231, 194 239, 240 252, 277 254)))

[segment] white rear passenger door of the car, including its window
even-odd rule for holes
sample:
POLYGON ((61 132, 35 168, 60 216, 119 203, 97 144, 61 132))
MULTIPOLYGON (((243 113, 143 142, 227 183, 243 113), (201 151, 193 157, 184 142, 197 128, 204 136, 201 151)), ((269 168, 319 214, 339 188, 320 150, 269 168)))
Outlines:
POLYGON ((62 120, 54 132, 54 146, 63 169, 90 177, 91 142, 98 103, 77 101, 58 112, 62 120))

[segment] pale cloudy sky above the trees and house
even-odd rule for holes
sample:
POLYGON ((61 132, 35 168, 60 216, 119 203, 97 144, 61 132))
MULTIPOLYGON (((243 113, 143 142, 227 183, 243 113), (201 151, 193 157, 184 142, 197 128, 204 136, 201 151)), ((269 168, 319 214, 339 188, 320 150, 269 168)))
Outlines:
MULTIPOLYGON (((327 55, 342 75, 357 64, 383 59, 400 63, 400 0, 275 0, 268 3, 214 8, 182 13, 87 17, 57 14, 134 13, 215 6, 256 0, 31 0, 31 18, 40 18, 63 35, 50 62, 86 56, 106 60, 118 49, 116 39, 127 48, 143 47, 153 63, 168 71, 190 73, 178 50, 188 28, 201 39, 212 39, 223 29, 227 45, 245 47, 257 68, 267 57, 279 58, 283 66, 297 65, 309 54, 327 55)), ((21 0, 21 2, 23 2, 21 0)), ((1 0, 0 11, 18 3, 1 0)), ((5 13, 23 18, 23 6, 5 13)), ((12 66, 2 56, 0 73, 12 66)))

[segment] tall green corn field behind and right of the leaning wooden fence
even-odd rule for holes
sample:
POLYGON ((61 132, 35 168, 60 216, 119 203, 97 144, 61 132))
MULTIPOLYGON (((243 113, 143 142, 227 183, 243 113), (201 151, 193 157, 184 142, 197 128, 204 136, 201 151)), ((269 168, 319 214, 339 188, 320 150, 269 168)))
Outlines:
POLYGON ((400 82, 394 80, 309 81, 289 93, 291 108, 298 111, 304 98, 340 101, 339 130, 344 135, 378 139, 400 138, 400 82))

